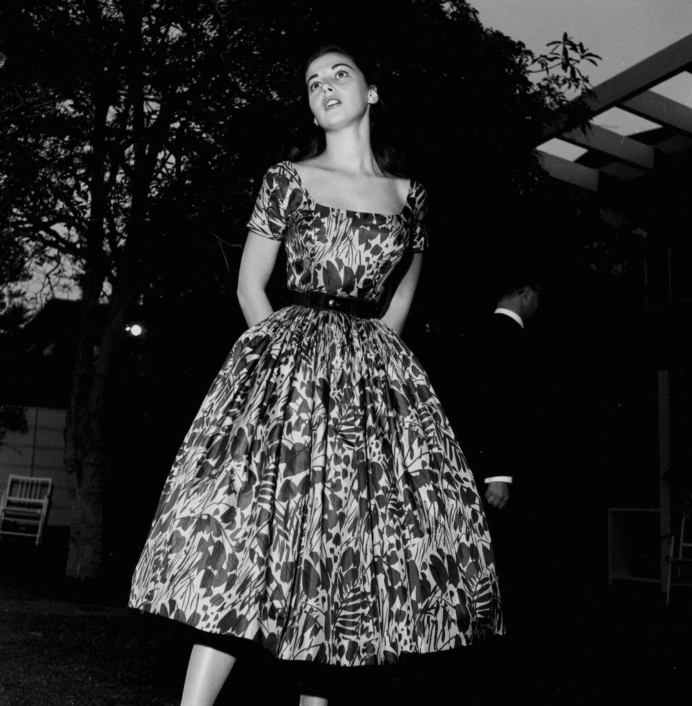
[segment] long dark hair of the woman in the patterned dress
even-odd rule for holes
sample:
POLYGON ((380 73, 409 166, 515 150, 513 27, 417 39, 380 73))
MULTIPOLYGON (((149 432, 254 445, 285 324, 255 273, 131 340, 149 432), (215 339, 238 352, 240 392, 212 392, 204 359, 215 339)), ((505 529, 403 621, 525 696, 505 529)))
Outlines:
MULTIPOLYGON (((319 59, 324 54, 341 54, 351 59, 365 76, 365 82, 368 85, 380 86, 377 80, 377 66, 365 59, 363 56, 356 56, 354 52, 350 52, 338 44, 327 44, 324 47, 319 47, 317 52, 311 54, 305 64, 303 71, 300 73, 300 85, 305 91, 305 72, 307 67, 312 64, 312 61, 319 59)), ((380 91, 378 90, 378 94, 380 91)), ((301 160, 310 160, 312 157, 324 152, 326 141, 324 139, 324 131, 319 126, 315 126, 312 120, 305 121, 305 126, 298 128, 293 136, 291 136, 291 145, 284 150, 286 159, 291 162, 300 162, 301 160)), ((373 148, 373 155, 377 167, 384 174, 390 177, 406 177, 406 160, 404 152, 401 150, 400 140, 398 138, 397 127, 387 112, 387 106, 382 100, 370 105, 370 146, 373 148)))

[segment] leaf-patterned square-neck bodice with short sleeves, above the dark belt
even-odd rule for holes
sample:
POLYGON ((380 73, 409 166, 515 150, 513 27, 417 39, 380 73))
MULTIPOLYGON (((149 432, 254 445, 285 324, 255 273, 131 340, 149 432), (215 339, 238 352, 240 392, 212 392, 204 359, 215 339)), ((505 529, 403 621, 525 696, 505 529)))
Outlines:
POLYGON ((264 176, 248 228, 286 244, 288 288, 379 299, 407 249, 427 246, 426 190, 411 181, 401 213, 383 215, 315 203, 291 162, 264 176))

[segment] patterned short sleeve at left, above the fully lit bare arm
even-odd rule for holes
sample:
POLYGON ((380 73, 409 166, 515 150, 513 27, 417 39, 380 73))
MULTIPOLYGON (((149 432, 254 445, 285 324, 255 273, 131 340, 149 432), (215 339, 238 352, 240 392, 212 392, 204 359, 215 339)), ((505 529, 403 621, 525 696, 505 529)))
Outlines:
POLYGON ((284 162, 274 164, 264 174, 247 228, 264 238, 283 240, 288 216, 302 201, 295 174, 284 162))

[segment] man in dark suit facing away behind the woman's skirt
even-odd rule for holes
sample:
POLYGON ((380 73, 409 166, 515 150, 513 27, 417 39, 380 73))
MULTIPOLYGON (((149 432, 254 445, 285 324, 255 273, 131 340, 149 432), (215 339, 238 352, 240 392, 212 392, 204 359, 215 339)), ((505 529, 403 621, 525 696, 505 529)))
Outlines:
POLYGON ((512 263, 495 273, 496 306, 472 337, 468 412, 462 444, 486 510, 498 565, 500 594, 511 625, 523 582, 530 581, 530 516, 535 454, 535 355, 525 323, 539 305, 533 266, 512 263), (527 563, 527 560, 529 562, 527 563), (527 570, 524 570, 527 569, 527 570))

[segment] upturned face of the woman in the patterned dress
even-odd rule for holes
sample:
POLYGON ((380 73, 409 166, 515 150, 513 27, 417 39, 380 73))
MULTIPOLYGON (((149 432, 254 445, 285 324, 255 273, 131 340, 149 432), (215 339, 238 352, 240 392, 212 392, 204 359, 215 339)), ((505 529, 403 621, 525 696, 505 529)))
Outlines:
POLYGON ((365 83, 358 66, 330 52, 310 62, 305 72, 307 100, 319 126, 328 130, 360 119, 377 102, 377 88, 365 83))

